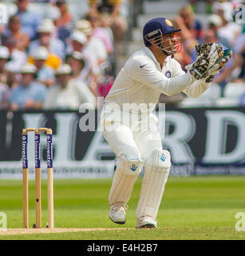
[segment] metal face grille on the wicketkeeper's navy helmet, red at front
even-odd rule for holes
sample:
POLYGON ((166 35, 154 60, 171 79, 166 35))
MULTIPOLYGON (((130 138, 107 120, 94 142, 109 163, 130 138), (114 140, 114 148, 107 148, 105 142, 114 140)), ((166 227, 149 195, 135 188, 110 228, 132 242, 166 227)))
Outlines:
POLYGON ((156 46, 162 50, 164 54, 167 56, 174 56, 174 54, 178 54, 182 48, 182 44, 180 43, 180 37, 179 38, 170 38, 168 40, 163 41, 163 34, 161 30, 154 30, 149 34, 146 34, 144 38, 150 42, 153 46, 156 46), (151 39, 155 39, 155 42, 151 42, 151 39), (175 40, 177 43, 174 46, 167 46, 163 48, 163 43, 170 41, 170 40, 175 40))

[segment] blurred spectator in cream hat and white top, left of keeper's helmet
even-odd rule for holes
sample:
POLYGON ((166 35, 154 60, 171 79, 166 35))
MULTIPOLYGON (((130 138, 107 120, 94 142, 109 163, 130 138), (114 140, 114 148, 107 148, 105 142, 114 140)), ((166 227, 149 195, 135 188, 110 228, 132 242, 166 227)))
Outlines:
POLYGON ((94 54, 96 57, 96 65, 101 65, 101 63, 107 60, 107 50, 104 42, 100 38, 93 37, 93 27, 91 23, 85 19, 77 22, 77 30, 84 33, 87 37, 87 44, 84 48, 86 54, 94 54))

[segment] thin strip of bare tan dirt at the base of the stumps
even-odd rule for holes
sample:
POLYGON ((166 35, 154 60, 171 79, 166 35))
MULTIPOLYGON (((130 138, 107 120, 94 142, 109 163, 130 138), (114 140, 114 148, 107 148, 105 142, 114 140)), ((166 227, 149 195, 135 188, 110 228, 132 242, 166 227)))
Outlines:
POLYGON ((1 235, 14 235, 14 234, 52 234, 52 233, 65 233, 65 232, 87 232, 87 231, 104 231, 104 230, 132 230, 134 228, 73 228, 73 229, 8 229, 1 231, 1 235))

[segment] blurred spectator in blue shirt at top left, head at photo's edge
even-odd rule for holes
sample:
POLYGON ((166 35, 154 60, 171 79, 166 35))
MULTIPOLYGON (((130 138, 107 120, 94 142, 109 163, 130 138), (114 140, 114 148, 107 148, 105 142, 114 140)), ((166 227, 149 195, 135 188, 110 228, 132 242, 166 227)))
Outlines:
POLYGON ((28 10, 29 0, 16 0, 18 6, 17 15, 22 23, 22 32, 29 35, 30 40, 37 38, 37 29, 41 23, 38 13, 28 10))

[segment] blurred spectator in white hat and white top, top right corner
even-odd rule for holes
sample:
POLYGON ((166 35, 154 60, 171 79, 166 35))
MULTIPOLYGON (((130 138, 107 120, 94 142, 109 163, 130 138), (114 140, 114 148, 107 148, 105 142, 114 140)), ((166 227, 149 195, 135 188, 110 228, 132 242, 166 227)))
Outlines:
POLYGON ((226 38, 229 45, 232 47, 235 44, 236 38, 242 32, 242 26, 232 22, 232 5, 231 5, 231 12, 229 11, 229 6, 231 3, 229 2, 215 2, 215 14, 218 14, 222 20, 222 25, 218 29, 218 36, 221 38, 226 38))

